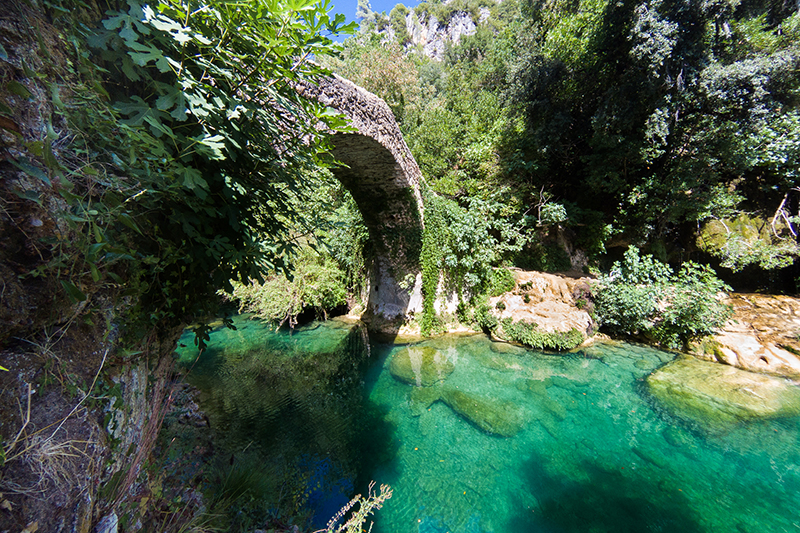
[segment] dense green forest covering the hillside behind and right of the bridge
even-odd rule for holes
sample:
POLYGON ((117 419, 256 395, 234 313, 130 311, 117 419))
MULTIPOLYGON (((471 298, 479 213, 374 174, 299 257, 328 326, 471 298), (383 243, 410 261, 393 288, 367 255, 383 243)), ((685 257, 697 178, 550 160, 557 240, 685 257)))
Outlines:
POLYGON ((662 261, 747 269, 756 288, 773 278, 754 269, 794 263, 793 4, 431 1, 413 11, 398 5, 382 26, 365 3, 345 71, 404 103, 396 113, 433 191, 467 207, 507 187, 506 213, 536 235, 512 258, 518 265, 600 266, 610 248, 636 244, 662 261), (406 17, 446 21, 440 12, 484 6, 489 19, 443 61, 403 33, 406 17), (391 64, 379 60, 388 47, 391 64), (358 73, 364 60, 370 76, 358 73))

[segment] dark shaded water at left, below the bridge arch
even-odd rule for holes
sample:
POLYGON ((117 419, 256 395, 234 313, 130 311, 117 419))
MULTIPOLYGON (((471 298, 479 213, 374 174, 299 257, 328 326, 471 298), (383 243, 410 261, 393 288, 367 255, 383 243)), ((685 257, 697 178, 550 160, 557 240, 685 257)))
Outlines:
POLYGON ((199 357, 182 340, 179 360, 214 435, 214 501, 235 508, 230 502, 242 496, 272 514, 309 513, 314 528, 324 527, 359 476, 394 458, 396 428, 364 403, 363 328, 327 324, 290 335, 240 323, 215 331, 199 357))

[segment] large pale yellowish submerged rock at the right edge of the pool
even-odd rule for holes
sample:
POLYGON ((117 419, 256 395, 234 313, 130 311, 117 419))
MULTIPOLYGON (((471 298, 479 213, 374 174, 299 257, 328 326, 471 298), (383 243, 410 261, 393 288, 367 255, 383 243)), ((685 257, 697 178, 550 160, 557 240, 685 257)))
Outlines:
POLYGON ((656 370, 647 386, 670 412, 711 431, 800 415, 800 387, 789 381, 691 357, 656 370))

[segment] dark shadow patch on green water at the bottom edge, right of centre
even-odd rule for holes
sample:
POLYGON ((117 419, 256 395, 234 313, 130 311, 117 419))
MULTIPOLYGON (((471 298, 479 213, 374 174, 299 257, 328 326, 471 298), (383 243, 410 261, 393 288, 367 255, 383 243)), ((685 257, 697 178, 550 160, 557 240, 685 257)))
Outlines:
POLYGON ((507 531, 542 533, 701 533, 695 512, 677 488, 631 471, 581 465, 581 479, 553 476, 540 457, 523 465, 538 506, 521 511, 507 531))

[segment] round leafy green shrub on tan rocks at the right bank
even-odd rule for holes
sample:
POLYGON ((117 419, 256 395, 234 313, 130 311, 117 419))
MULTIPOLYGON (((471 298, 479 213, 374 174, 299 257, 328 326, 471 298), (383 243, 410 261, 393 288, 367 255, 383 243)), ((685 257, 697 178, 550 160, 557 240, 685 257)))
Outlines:
POLYGON ((708 266, 689 261, 675 274, 631 246, 623 262, 600 279, 597 316, 613 334, 645 335, 679 348, 713 333, 730 317, 730 307, 717 297, 725 290, 730 288, 708 266))

